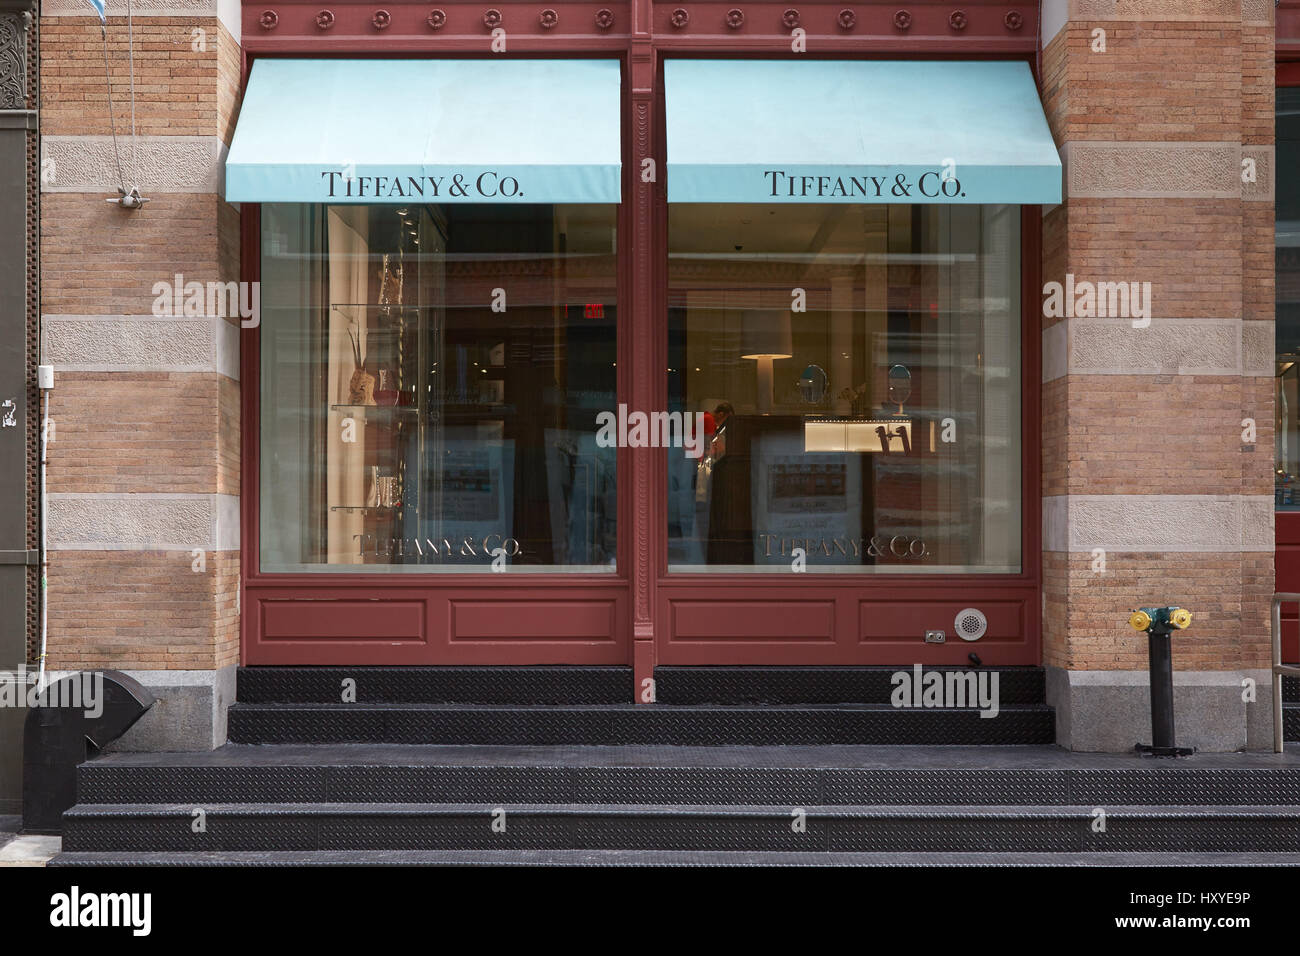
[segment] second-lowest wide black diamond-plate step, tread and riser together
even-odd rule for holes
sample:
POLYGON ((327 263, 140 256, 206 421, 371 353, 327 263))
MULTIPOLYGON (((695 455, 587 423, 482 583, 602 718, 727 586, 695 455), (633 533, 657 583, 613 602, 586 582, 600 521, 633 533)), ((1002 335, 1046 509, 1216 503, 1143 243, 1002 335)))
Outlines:
POLYGON ((1300 808, 107 804, 65 814, 66 852, 690 849, 1300 852, 1300 808), (195 830, 199 830, 196 832, 195 830))

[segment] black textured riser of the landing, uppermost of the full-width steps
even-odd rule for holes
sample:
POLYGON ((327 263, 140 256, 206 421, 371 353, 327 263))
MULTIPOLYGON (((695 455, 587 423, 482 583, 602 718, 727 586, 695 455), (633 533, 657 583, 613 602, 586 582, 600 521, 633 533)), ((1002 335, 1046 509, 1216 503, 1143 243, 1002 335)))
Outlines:
POLYGON ((564 766, 110 767, 81 804, 1300 805, 1300 770, 564 766))

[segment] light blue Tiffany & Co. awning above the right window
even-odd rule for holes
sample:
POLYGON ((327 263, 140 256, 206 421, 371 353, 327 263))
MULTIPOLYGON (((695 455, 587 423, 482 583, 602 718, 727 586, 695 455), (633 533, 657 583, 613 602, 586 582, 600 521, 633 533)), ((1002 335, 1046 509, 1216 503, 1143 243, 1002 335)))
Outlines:
POLYGON ((1028 64, 668 60, 668 202, 1060 203, 1028 64))

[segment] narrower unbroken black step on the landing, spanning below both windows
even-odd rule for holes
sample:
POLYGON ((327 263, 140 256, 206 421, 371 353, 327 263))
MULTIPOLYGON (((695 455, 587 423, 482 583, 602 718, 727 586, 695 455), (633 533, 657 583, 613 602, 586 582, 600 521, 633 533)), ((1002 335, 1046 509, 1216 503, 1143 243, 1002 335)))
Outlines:
POLYGON ((1045 705, 972 709, 672 705, 235 704, 237 744, 1048 744, 1045 705))

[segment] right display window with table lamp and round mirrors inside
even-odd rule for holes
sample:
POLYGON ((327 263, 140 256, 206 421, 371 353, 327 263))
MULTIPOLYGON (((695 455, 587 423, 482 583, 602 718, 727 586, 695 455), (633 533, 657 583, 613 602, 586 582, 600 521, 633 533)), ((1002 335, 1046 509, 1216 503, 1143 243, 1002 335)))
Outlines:
POLYGON ((1022 570, 1020 209, 670 204, 670 571, 1022 570))

